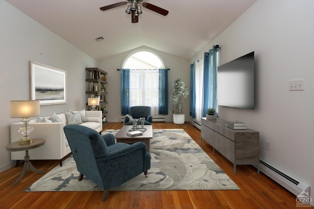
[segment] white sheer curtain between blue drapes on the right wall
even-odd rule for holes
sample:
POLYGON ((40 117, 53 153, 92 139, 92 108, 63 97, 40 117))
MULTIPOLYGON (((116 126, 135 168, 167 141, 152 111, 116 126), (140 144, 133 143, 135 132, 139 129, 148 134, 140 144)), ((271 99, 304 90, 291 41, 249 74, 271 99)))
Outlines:
POLYGON ((195 113, 196 120, 201 122, 203 96, 204 59, 195 61, 195 113))

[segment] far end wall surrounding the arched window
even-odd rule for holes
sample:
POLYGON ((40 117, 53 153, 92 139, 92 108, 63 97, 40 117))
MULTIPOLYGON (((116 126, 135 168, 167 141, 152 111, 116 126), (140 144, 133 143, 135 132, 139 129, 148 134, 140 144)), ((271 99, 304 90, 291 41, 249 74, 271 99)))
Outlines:
MULTIPOLYGON (((120 105, 120 71, 117 69, 122 68, 125 60, 134 52, 139 50, 151 51, 163 61, 164 67, 169 68, 168 71, 168 86, 169 86, 169 115, 166 116, 166 121, 171 121, 172 110, 174 106, 170 101, 172 95, 172 82, 176 78, 181 78, 185 85, 189 88, 190 86, 190 67, 188 60, 179 58, 162 51, 155 50, 153 48, 142 46, 112 57, 105 58, 99 61, 99 68, 105 70, 107 75, 107 87, 106 99, 108 101, 107 110, 108 114, 107 121, 109 122, 120 122, 121 118, 121 105, 120 105)), ((183 113, 185 114, 185 121, 189 118, 189 96, 184 99, 183 113)))

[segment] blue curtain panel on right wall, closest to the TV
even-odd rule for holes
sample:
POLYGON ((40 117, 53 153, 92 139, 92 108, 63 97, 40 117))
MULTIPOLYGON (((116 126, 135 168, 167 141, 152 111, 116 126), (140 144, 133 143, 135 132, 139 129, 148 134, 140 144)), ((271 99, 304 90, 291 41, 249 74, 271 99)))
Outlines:
POLYGON ((217 110, 218 51, 219 46, 214 45, 204 54, 202 117, 206 116, 208 108, 217 110))

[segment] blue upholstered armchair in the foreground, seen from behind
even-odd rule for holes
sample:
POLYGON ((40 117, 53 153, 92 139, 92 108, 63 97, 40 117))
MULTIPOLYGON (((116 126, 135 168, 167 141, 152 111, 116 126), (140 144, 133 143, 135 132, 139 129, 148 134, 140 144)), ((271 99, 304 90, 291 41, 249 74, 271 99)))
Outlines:
POLYGON ((86 176, 102 187, 103 201, 108 197, 109 188, 120 186, 143 172, 146 177, 151 167, 151 156, 143 142, 115 143, 112 134, 100 135, 80 125, 66 125, 64 133, 80 173, 78 181, 86 176))

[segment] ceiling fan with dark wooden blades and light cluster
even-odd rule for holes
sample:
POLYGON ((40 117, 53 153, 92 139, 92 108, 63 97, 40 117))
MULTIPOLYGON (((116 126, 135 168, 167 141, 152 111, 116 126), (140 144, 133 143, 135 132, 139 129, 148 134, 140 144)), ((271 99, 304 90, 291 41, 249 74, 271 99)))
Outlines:
POLYGON ((113 4, 110 4, 110 5, 107 5, 107 6, 100 7, 100 10, 105 11, 105 10, 108 10, 108 9, 113 9, 115 7, 118 7, 118 6, 129 4, 127 9, 126 9, 126 13, 127 14, 131 14, 131 16, 132 16, 131 17, 131 22, 132 23, 137 23, 139 14, 142 14, 141 4, 146 9, 150 9, 150 10, 152 10, 154 12, 157 12, 160 15, 163 15, 163 16, 166 16, 169 13, 168 10, 165 10, 163 8, 155 6, 154 4, 151 4, 151 3, 147 3, 147 2, 143 2, 142 3, 142 1, 143 0, 121 1, 121 2, 118 2, 118 3, 113 3, 113 4))

